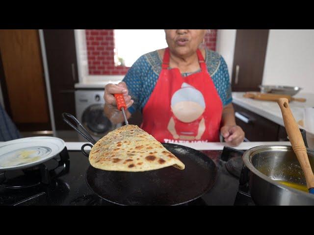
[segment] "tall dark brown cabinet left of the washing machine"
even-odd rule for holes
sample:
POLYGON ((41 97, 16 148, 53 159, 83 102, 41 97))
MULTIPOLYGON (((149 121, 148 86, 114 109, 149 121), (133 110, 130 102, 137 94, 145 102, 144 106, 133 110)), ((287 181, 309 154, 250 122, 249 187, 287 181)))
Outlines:
POLYGON ((74 85, 78 82, 74 29, 44 29, 53 115, 56 130, 72 130, 62 113, 76 114, 74 85))

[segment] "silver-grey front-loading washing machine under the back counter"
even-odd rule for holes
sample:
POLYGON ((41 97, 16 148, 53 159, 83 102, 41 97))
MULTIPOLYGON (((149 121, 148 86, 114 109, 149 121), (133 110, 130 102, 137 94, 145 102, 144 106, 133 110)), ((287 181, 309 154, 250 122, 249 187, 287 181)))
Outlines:
MULTIPOLYGON (((98 141, 108 132, 120 127, 122 123, 112 124, 104 114, 104 89, 77 89, 75 91, 76 118, 88 131, 88 133, 98 141)), ((80 141, 86 141, 78 134, 80 141)))

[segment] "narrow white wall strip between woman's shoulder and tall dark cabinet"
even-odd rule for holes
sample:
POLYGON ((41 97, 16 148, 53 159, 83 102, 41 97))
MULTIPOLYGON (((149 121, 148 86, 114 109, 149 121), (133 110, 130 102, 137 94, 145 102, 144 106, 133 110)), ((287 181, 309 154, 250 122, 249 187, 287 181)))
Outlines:
POLYGON ((216 51, 225 59, 232 80, 232 67, 234 64, 236 29, 218 29, 216 51))

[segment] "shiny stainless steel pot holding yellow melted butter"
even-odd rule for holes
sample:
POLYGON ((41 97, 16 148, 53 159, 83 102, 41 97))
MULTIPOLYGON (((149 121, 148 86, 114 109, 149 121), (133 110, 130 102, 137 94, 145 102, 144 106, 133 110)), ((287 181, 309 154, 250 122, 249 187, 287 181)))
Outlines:
MULTIPOLYGON (((312 170, 314 150, 307 149, 312 170)), ((314 194, 278 183, 279 180, 306 186, 302 168, 291 146, 262 145, 242 156, 249 169, 251 197, 258 205, 314 205, 314 194)))

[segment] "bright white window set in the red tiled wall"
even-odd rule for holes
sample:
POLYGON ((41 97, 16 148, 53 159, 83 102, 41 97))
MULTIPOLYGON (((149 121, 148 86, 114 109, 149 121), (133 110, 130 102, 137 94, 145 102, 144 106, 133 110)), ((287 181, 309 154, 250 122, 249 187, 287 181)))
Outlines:
POLYGON ((168 47, 163 29, 115 29, 115 66, 131 67, 143 54, 168 47))

